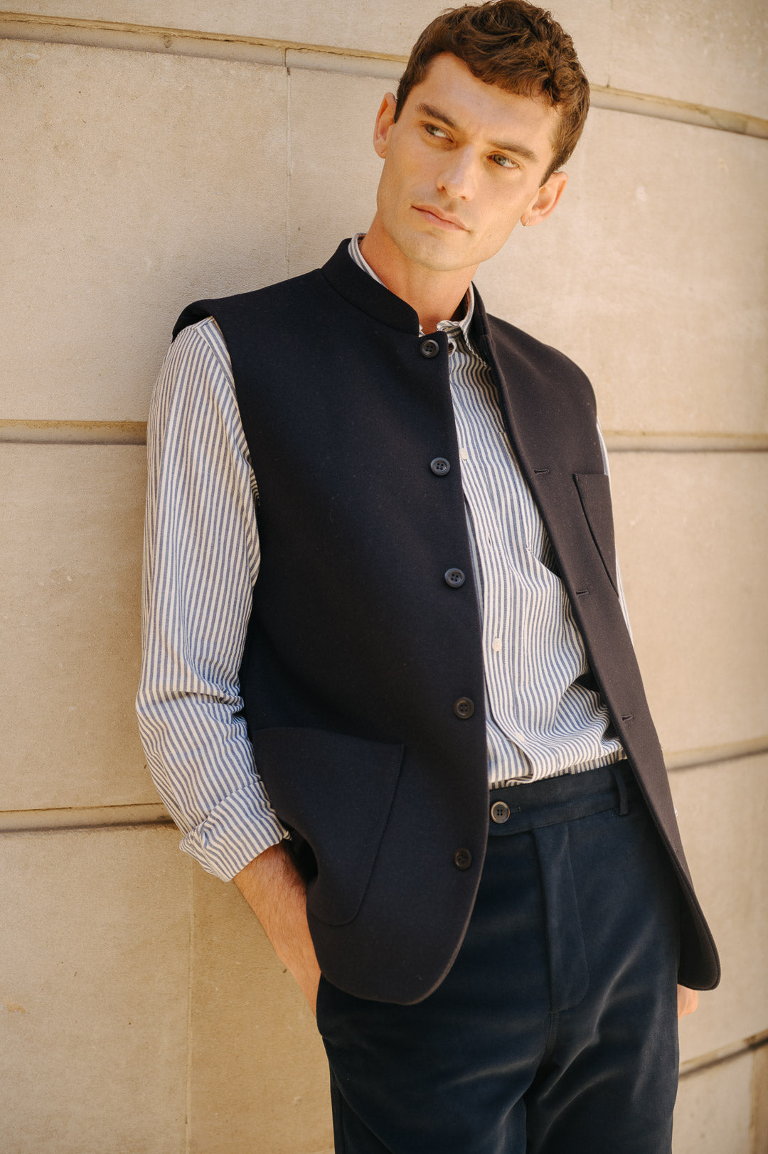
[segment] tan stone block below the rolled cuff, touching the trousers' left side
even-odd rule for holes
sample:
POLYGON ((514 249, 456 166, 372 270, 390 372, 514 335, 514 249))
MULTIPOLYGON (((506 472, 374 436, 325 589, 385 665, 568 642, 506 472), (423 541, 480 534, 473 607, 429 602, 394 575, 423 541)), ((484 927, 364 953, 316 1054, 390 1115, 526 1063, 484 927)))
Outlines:
POLYGON ((330 1154, 314 1018, 233 885, 194 871, 191 1154, 330 1154))

